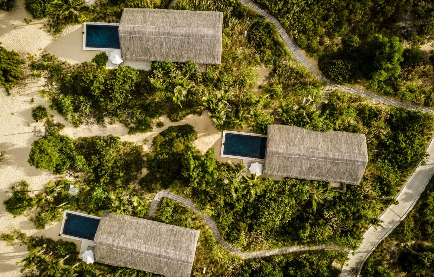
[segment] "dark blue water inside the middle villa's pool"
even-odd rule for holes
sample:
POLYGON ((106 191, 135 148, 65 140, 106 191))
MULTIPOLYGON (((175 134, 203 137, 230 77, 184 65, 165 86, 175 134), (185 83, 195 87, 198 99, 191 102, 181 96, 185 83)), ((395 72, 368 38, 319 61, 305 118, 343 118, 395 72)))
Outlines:
POLYGON ((266 137, 226 133, 223 154, 264 159, 266 145, 266 137))

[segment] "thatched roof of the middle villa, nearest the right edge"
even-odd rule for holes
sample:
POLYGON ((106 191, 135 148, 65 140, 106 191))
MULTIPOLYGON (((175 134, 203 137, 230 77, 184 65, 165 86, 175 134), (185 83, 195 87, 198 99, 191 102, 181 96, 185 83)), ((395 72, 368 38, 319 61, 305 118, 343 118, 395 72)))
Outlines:
POLYGON ((268 125, 264 174, 356 185, 367 152, 363 134, 268 125))

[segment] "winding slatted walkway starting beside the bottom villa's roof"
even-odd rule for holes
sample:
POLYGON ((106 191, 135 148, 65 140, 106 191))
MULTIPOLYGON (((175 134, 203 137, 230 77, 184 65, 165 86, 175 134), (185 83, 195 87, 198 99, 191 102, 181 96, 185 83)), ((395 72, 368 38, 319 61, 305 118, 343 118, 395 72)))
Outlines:
POLYGON ((319 249, 333 249, 333 250, 340 250, 340 251, 349 252, 349 249, 347 249, 347 248, 342 248, 342 247, 339 247, 336 245, 331 245, 331 244, 322 244, 322 245, 313 245, 313 246, 295 245, 295 246, 287 246, 287 247, 278 248, 278 249, 271 249, 271 250, 242 252, 241 250, 239 250, 239 249, 233 247, 232 245, 230 245, 229 243, 227 243, 221 237, 221 234, 218 231, 216 223, 214 223, 214 221, 208 215, 204 215, 203 213, 201 213, 201 211, 199 211, 196 208, 196 206, 195 206, 195 204, 193 204, 193 202, 191 202, 190 200, 185 199, 179 195, 176 195, 176 194, 174 194, 168 190, 159 191, 155 195, 154 199, 151 202, 151 205, 149 206, 148 213, 146 214, 146 219, 152 219, 152 217, 154 216, 155 212, 158 209, 158 204, 165 197, 170 198, 173 201, 175 201, 175 202, 177 202, 183 206, 186 206, 187 208, 189 208, 190 210, 192 210, 193 212, 198 214, 211 228, 214 236, 216 237, 216 240, 224 249, 226 249, 230 253, 237 254, 237 255, 239 255, 243 258, 246 258, 246 259, 261 258, 261 257, 266 257, 266 256, 281 255, 281 254, 290 253, 290 252, 319 250, 319 249))

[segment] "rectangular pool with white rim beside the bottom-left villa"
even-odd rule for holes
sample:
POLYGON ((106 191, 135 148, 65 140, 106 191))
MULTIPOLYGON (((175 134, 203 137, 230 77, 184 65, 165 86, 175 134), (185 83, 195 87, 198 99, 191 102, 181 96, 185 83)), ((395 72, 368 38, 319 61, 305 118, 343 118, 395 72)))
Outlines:
POLYGON ((99 220, 96 216, 66 210, 63 214, 60 236, 93 241, 99 220))

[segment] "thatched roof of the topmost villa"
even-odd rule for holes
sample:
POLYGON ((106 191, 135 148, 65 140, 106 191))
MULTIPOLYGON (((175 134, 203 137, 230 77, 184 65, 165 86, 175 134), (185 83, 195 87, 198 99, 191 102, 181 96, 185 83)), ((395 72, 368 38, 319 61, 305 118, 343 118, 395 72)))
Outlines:
POLYGON ((222 28, 222 12, 124 8, 122 58, 220 64, 222 28))

